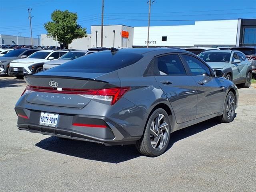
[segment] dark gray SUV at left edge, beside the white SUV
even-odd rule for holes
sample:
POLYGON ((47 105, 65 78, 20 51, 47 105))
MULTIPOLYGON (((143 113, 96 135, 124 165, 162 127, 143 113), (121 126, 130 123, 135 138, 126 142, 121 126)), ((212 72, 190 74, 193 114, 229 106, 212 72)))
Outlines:
POLYGON ((8 76, 11 76, 9 70, 10 62, 16 59, 26 58, 39 50, 41 49, 20 48, 8 52, 4 56, 0 57, 0 73, 7 73, 8 76))

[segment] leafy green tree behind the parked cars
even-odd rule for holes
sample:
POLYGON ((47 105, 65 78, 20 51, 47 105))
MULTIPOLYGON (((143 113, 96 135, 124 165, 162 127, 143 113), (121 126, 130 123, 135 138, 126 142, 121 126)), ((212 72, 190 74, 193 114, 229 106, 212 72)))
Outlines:
POLYGON ((77 14, 69 12, 68 10, 61 11, 55 10, 51 15, 52 21, 44 24, 45 30, 48 32, 48 36, 52 36, 60 44, 63 44, 64 48, 68 48, 68 44, 72 40, 77 38, 86 37, 86 28, 82 28, 77 24, 77 14))

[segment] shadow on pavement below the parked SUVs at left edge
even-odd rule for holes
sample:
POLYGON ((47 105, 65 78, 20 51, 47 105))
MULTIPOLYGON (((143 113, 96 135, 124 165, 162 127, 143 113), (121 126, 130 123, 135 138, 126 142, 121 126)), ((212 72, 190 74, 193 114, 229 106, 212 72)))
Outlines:
POLYGON ((26 86, 24 79, 9 77, 7 74, 0 75, 0 88, 26 86))

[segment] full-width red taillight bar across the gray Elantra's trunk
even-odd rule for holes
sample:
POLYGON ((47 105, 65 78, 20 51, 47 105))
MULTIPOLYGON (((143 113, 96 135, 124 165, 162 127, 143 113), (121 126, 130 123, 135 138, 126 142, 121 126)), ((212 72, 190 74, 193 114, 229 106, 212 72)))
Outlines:
MULTIPOLYGON (((72 88, 50 88, 27 85, 22 95, 32 92, 48 92, 61 94, 77 94, 85 98, 109 101, 111 105, 115 104, 130 87, 118 87, 108 89, 72 89, 72 88)), ((21 95, 21 96, 22 96, 21 95)))

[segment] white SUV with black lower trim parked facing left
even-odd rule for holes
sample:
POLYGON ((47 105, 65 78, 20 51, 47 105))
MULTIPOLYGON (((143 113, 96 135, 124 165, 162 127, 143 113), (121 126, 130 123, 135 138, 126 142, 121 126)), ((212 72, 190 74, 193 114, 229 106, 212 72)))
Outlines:
POLYGON ((44 62, 57 60, 67 52, 62 50, 42 50, 33 53, 25 59, 13 60, 10 63, 10 74, 20 78, 24 75, 41 72, 44 62))

